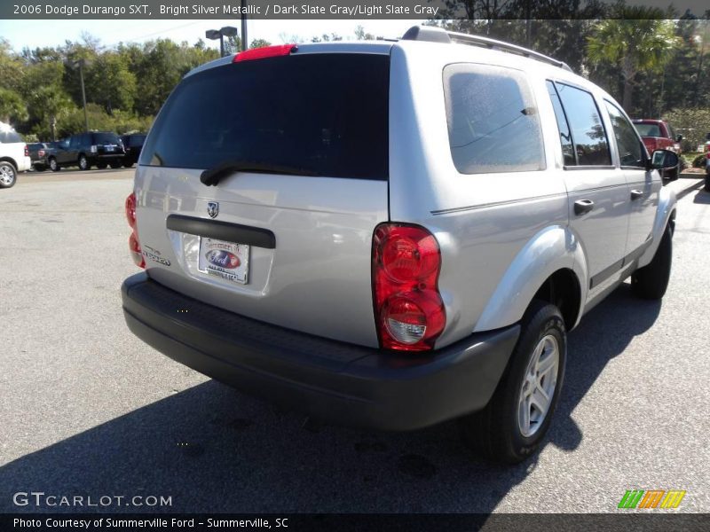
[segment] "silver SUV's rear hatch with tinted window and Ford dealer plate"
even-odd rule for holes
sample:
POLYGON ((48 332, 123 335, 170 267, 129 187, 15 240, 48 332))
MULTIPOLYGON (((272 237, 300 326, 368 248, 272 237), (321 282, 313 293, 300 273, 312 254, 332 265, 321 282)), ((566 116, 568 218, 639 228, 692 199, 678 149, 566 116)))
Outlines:
POLYGON ((388 218, 388 49, 309 48, 185 77, 140 156, 138 238, 151 278, 178 292, 375 347, 371 246, 388 218), (215 168, 215 184, 203 184, 215 168))

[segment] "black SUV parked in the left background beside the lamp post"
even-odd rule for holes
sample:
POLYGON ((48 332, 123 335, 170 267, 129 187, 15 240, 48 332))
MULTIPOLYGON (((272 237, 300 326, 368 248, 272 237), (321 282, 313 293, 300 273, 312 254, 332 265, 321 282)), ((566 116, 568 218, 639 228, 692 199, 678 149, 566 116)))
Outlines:
POLYGON ((107 166, 121 168, 124 154, 118 135, 111 131, 91 131, 59 142, 54 153, 49 155, 48 162, 54 172, 71 166, 78 166, 80 170, 88 170, 92 166, 99 169, 107 166))

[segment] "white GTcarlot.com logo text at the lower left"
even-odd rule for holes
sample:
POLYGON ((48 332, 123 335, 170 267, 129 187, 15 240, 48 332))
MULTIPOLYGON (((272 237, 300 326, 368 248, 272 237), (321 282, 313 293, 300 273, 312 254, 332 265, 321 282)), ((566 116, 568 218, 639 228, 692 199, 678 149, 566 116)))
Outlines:
POLYGON ((57 495, 43 491, 18 491, 12 496, 15 506, 34 506, 36 508, 106 508, 110 506, 160 507, 172 506, 172 496, 162 495, 57 495))

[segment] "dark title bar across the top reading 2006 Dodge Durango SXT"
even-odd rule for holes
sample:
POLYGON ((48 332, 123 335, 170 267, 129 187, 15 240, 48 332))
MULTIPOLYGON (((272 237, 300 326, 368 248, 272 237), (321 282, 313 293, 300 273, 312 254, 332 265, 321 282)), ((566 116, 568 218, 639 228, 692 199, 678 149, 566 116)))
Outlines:
MULTIPOLYGON (((242 13, 261 20, 597 19, 613 17, 615 4, 615 0, 544 5, 536 0, 497 4, 466 0, 3 0, 0 19, 224 20, 239 19, 242 13)), ((659 8, 667 18, 685 12, 710 17, 706 0, 628 0, 627 4, 659 8), (668 11, 671 4, 673 12, 668 11)))

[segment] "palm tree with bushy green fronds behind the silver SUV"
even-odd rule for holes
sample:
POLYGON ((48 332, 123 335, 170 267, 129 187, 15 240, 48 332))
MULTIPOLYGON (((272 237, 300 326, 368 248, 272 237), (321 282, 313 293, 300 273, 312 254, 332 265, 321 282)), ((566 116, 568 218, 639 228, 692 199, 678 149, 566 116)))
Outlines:
POLYGON ((624 6, 618 19, 602 20, 588 37, 587 54, 593 64, 618 65, 624 80, 623 103, 630 110, 636 74, 660 72, 673 58, 677 37, 673 20, 658 8, 624 6))

